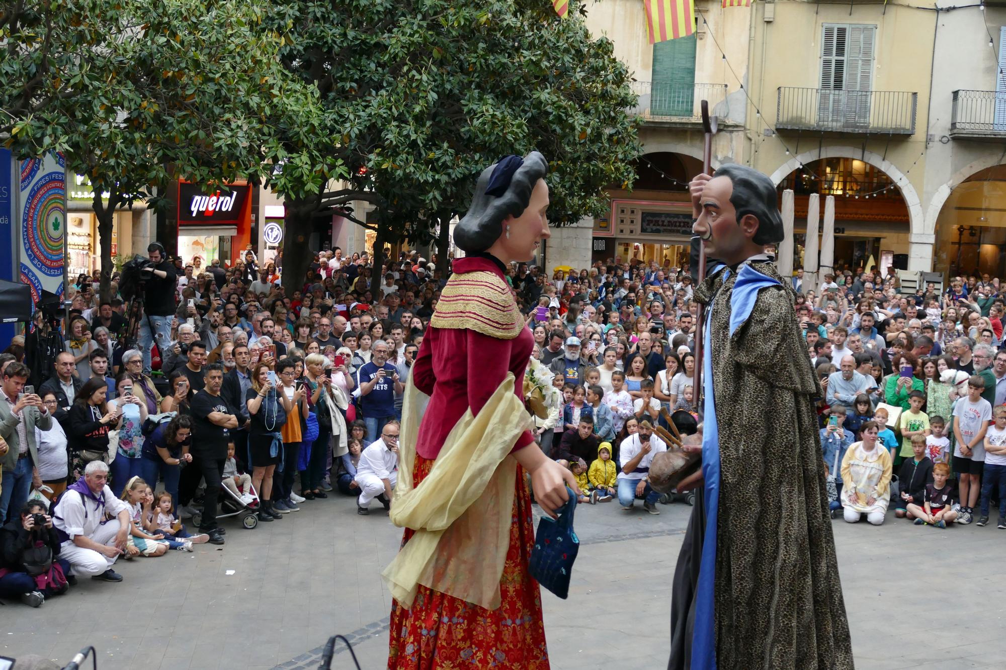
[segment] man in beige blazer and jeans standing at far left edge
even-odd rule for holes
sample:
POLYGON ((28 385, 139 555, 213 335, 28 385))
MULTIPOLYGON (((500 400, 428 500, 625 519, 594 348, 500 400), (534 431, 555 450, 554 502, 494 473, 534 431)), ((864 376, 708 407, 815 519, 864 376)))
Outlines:
POLYGON ((35 446, 35 429, 48 431, 52 417, 34 393, 22 393, 28 380, 28 366, 13 362, 3 371, 0 385, 0 438, 9 450, 0 457, 3 469, 2 490, 0 490, 0 521, 10 514, 18 518, 21 506, 28 500, 31 486, 40 486, 38 476, 38 450, 35 446))

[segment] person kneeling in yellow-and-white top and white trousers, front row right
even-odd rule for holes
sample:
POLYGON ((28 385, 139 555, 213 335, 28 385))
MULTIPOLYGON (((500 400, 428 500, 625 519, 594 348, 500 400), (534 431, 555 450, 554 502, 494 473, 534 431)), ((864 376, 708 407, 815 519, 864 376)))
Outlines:
POLYGON ((890 454, 877 448, 876 422, 860 428, 863 440, 853 443, 842 459, 842 507, 845 520, 862 519, 874 526, 883 523, 890 501, 890 454))

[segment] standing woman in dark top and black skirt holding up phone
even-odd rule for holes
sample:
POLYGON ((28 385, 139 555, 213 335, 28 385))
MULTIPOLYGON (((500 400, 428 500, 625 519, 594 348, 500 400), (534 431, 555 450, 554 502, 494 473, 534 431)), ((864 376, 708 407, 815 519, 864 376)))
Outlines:
POLYGON ((252 466, 252 486, 259 492, 262 507, 259 510, 260 521, 272 521, 283 518, 280 512, 287 513, 287 508, 277 509, 273 504, 273 475, 276 466, 283 458, 283 438, 280 431, 287 423, 286 396, 277 394, 276 387, 269 378, 270 369, 265 363, 259 363, 252 370, 252 387, 248 388, 244 404, 252 420, 248 432, 248 465, 252 466))

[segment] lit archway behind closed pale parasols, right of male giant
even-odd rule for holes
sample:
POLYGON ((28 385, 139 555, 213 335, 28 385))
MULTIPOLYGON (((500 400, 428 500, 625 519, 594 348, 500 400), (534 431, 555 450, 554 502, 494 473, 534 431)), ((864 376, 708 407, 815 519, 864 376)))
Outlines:
MULTIPOLYGON (((809 196, 819 193, 820 221, 825 197, 835 196, 836 271, 856 271, 870 259, 881 272, 907 270, 909 210, 897 184, 879 167, 865 161, 836 156, 811 161, 779 182, 794 192, 794 268, 804 265, 809 196)), ((819 230, 821 223, 819 223, 819 230)))

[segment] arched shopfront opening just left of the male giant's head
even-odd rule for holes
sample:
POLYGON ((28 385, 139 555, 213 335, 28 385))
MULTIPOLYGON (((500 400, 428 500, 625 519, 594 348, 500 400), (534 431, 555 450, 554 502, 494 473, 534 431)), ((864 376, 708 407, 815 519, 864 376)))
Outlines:
POLYGON ((658 151, 636 161, 631 191, 610 189, 612 218, 608 230, 595 222, 594 260, 683 267, 691 237, 688 182, 702 171, 702 162, 685 154, 658 151))

